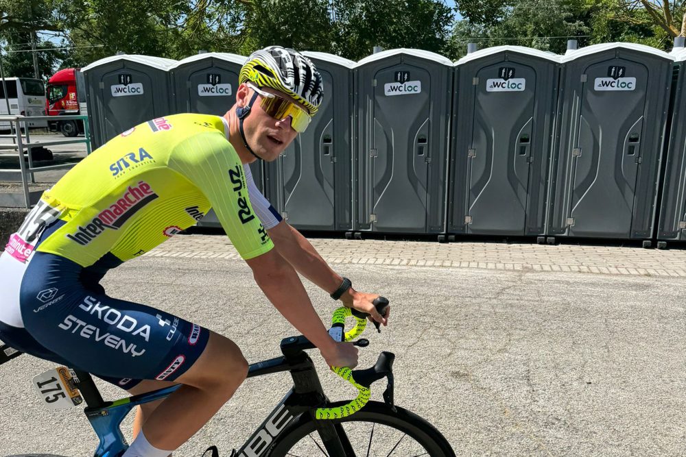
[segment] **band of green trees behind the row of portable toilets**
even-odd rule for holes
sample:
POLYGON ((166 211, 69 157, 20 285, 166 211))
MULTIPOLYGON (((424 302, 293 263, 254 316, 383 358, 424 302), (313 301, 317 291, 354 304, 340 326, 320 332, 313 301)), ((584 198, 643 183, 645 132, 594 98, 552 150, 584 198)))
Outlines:
MULTIPOLYGON (((20 37, 32 31, 58 32, 71 49, 43 51, 45 74, 59 61, 62 68, 84 66, 118 51, 178 60, 201 49, 247 55, 268 45, 352 60, 377 45, 457 59, 470 41, 480 48, 522 45, 563 53, 571 37, 580 46, 625 41, 671 49, 686 12, 686 0, 670 0, 671 18, 663 17, 665 2, 657 0, 457 3, 460 21, 445 0, 0 0, 0 45, 19 49, 29 41, 20 37)), ((5 60, 21 72, 32 62, 30 53, 11 53, 5 60)))

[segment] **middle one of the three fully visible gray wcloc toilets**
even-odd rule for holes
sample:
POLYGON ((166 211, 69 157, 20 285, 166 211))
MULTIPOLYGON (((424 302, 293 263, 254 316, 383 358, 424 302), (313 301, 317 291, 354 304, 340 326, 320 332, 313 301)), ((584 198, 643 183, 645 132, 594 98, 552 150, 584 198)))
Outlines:
POLYGON ((519 46, 456 62, 447 233, 543 236, 560 56, 519 46))

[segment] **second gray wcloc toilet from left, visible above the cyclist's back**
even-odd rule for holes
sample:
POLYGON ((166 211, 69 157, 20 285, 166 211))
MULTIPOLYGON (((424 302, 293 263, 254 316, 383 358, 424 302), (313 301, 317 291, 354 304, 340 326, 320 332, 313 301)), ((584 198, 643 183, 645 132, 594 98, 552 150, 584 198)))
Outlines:
POLYGON ((235 103, 244 55, 202 53, 179 60, 169 68, 175 112, 223 116, 235 103))

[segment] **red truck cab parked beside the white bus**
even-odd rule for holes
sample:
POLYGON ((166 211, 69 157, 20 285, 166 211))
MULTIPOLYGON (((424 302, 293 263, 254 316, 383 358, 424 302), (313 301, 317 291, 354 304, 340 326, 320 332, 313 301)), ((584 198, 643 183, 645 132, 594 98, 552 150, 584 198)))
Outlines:
MULTIPOLYGON (((85 101, 85 86, 80 69, 60 70, 47 83, 48 116, 83 114, 81 103, 85 101)), ((58 130, 64 136, 77 136, 84 132, 82 121, 49 121, 51 130, 58 130)))

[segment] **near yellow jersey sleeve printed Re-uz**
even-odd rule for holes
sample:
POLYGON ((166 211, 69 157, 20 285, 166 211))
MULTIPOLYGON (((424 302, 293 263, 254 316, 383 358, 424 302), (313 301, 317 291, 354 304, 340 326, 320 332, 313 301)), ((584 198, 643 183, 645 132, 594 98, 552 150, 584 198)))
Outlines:
POLYGON ((172 151, 168 165, 202 191, 242 258, 261 256, 274 247, 252 209, 241 160, 223 135, 187 138, 172 151))

